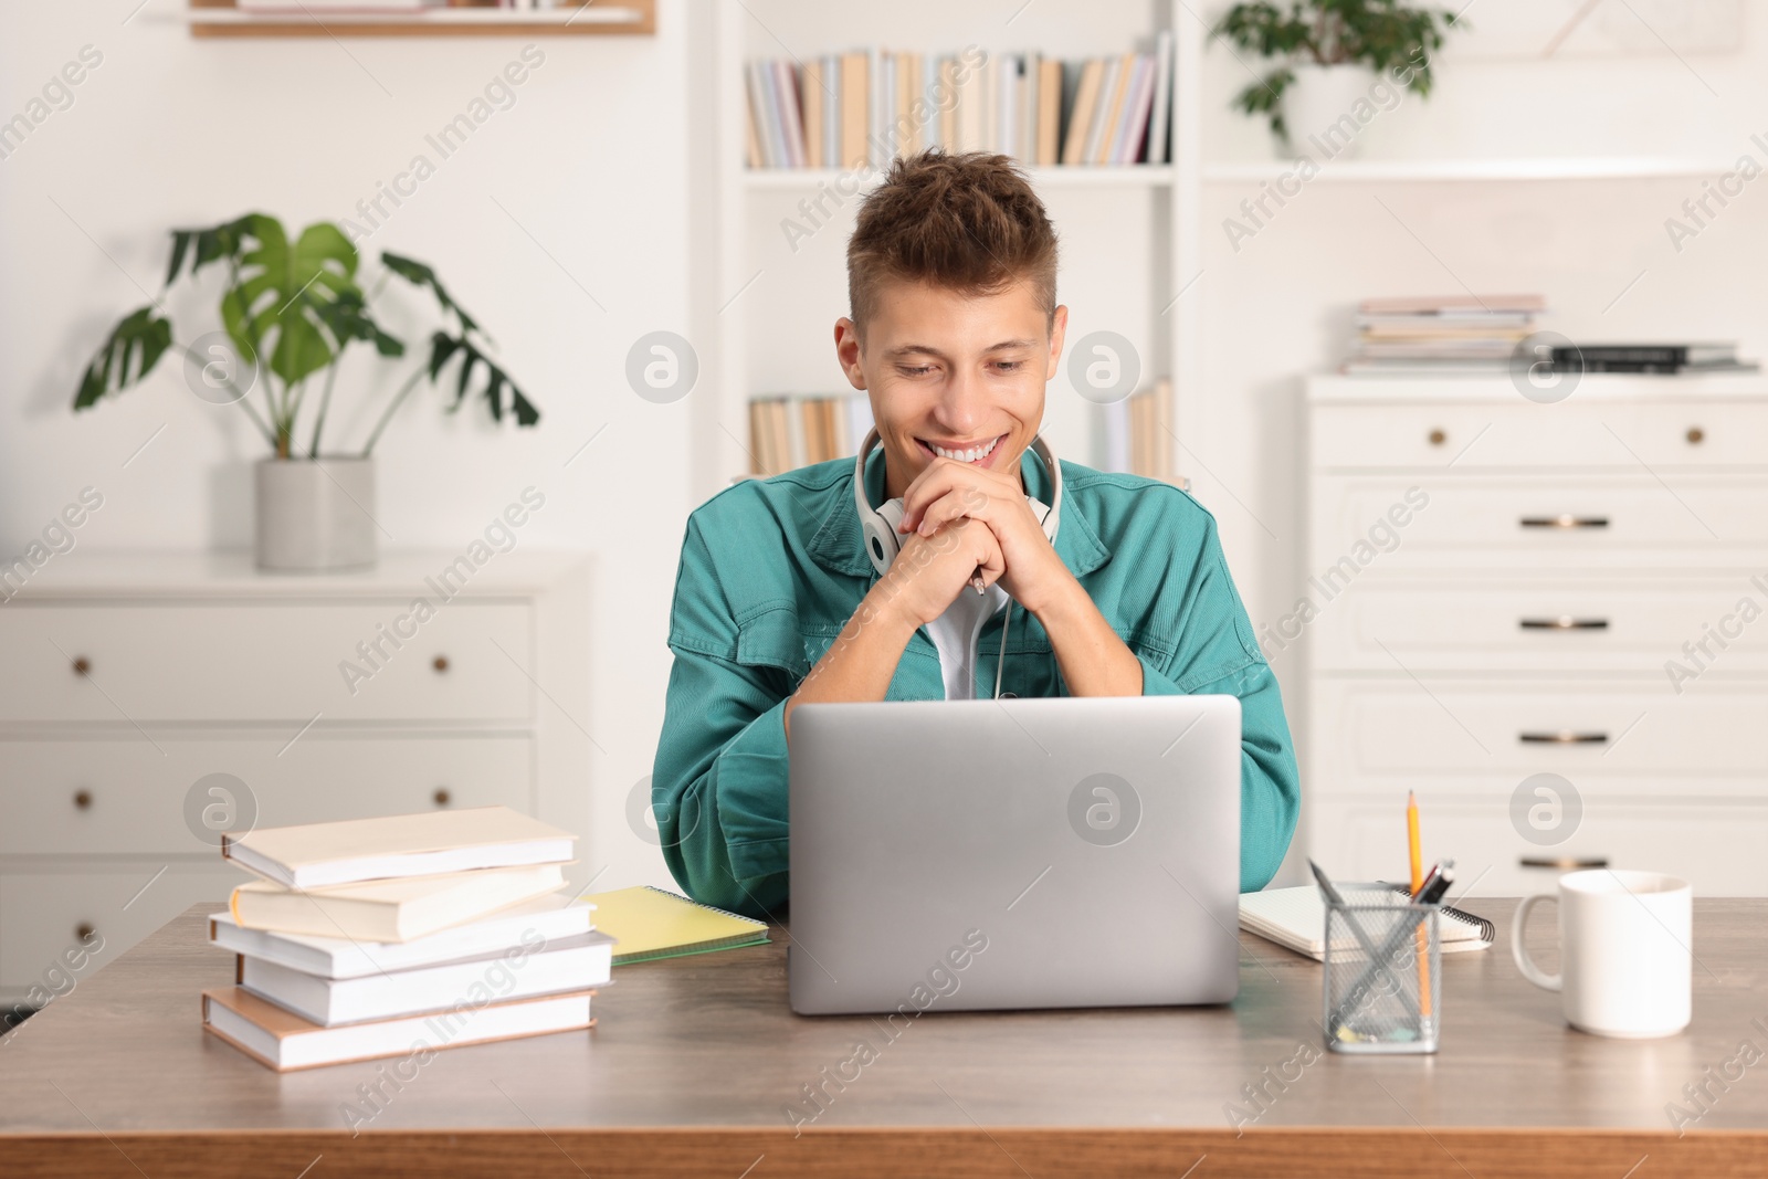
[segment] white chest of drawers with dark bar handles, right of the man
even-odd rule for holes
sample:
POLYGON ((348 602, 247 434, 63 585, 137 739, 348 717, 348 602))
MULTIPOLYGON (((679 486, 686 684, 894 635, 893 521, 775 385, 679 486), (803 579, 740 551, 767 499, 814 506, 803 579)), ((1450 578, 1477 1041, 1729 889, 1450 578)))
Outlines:
POLYGON ((1266 642, 1307 642, 1310 854, 1404 879, 1416 790, 1487 896, 1598 861, 1768 894, 1768 382, 1322 377, 1308 412, 1266 642))

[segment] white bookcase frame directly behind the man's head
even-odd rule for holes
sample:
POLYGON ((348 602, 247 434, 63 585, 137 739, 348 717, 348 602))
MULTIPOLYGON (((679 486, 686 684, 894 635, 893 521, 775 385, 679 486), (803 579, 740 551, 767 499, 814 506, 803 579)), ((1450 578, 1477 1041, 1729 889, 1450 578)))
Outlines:
MULTIPOLYGON (((743 69, 753 58, 838 53, 865 46, 951 53, 1038 51, 1064 60, 1151 48, 1174 34, 1172 163, 1029 168, 1063 240, 1057 297, 1070 306, 1068 341, 1112 331, 1140 354, 1142 385, 1174 382, 1183 433, 1197 396, 1200 288, 1200 67, 1206 32, 1183 0, 1103 0, 972 12, 935 0, 888 9, 790 0, 714 0, 690 78, 697 182, 690 339, 700 357, 690 433, 695 495, 750 470, 748 401, 766 394, 842 392, 834 320, 847 313, 845 246, 868 184, 792 249, 781 219, 843 173, 833 168, 746 166, 743 69), (1179 297, 1179 292, 1185 292, 1179 297)), ((875 184, 873 173, 872 184, 875 184)), ((1103 456, 1105 410, 1063 373, 1048 384, 1045 437, 1068 460, 1103 456)), ((1177 463, 1183 467, 1183 453, 1177 463)))

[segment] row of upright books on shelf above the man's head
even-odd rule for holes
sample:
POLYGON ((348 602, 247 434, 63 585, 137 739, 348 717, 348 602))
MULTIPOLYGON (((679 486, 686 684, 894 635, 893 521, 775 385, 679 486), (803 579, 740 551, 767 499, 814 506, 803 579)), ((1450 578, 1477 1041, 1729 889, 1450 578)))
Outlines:
POLYGON ((1024 164, 1165 164, 1172 34, 1151 49, 1064 62, 884 48, 744 67, 750 168, 882 166, 926 147, 1024 164))

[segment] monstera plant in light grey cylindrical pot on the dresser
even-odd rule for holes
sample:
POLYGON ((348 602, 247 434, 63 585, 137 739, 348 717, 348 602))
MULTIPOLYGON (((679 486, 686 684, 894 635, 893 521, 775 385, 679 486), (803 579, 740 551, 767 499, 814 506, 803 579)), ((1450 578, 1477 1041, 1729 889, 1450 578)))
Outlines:
POLYGON ((170 288, 180 276, 194 279, 212 263, 226 270, 221 329, 179 345, 159 300, 131 311, 87 364, 74 410, 120 394, 152 373, 166 352, 182 352, 191 389, 207 401, 239 407, 271 449, 255 470, 255 539, 263 569, 352 569, 375 562, 375 442, 426 377, 435 385, 444 373, 451 375, 449 412, 458 412, 472 394, 486 401, 497 421, 506 410, 518 426, 541 417, 486 354, 490 339, 437 272, 384 251, 385 274, 375 292, 394 278, 426 290, 442 323, 430 336, 428 355, 391 396, 361 451, 327 449, 327 414, 345 352, 361 345, 385 361, 407 354, 405 341, 375 320, 355 246, 325 221, 290 240, 281 221, 253 212, 207 230, 173 230, 164 285, 170 288))

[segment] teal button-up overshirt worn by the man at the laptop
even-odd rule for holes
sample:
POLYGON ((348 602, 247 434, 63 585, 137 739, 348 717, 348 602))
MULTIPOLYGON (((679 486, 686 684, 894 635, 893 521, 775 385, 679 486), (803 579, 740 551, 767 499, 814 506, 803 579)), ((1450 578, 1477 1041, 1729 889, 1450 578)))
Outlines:
MULTIPOLYGON (((1048 504, 1041 461, 1027 453, 1020 470, 1025 491, 1048 504)), ((882 453, 872 454, 866 486, 870 502, 882 502, 882 453)), ((1264 887, 1289 850, 1301 787, 1276 677, 1215 518, 1172 484, 1063 463, 1055 553, 1140 659, 1142 695, 1239 696, 1239 887, 1264 887)), ((739 483, 688 518, 651 799, 663 859, 695 900, 753 916, 785 903, 785 702, 873 582, 852 460, 739 483)), ((1038 619, 1011 601, 1008 610, 1001 691, 1068 695, 1038 619)), ((1001 620, 990 619, 978 643, 978 696, 994 695, 1001 620)), ((886 700, 944 696, 939 650, 921 628, 886 700)))

